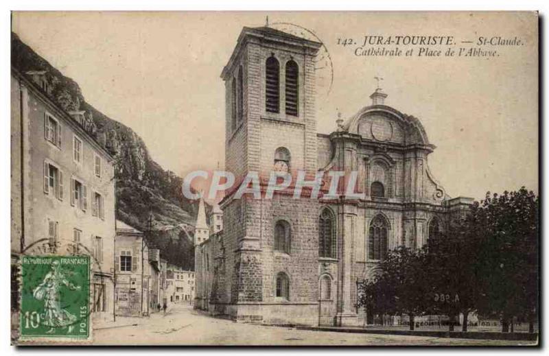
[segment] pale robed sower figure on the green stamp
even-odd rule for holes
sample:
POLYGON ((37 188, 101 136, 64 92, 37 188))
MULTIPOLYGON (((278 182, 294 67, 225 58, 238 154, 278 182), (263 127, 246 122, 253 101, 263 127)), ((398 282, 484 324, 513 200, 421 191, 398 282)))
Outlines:
POLYGON ((71 290, 80 290, 80 285, 75 286, 61 271, 59 261, 51 263, 51 271, 47 272, 44 281, 32 292, 34 298, 44 300, 43 324, 50 327, 46 333, 54 333, 55 327, 68 327, 68 333, 74 329, 76 316, 65 309, 61 309, 60 288, 65 285, 71 290))

